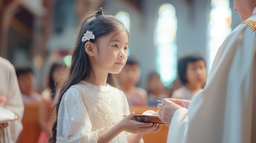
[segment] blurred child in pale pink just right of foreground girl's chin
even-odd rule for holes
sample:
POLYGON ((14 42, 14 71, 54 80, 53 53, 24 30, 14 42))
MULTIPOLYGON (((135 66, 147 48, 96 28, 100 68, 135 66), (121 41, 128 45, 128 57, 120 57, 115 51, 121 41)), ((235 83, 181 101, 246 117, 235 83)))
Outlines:
POLYGON ((140 78, 139 63, 134 58, 128 58, 126 65, 119 73, 120 90, 126 95, 129 106, 147 106, 148 95, 143 88, 136 87, 140 78))

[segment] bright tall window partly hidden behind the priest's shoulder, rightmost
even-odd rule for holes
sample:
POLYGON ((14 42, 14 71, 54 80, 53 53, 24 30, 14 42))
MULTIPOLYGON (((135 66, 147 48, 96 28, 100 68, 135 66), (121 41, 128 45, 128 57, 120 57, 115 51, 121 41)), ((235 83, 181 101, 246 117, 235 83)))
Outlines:
MULTIPOLYGON (((208 26, 207 67, 210 69, 213 59, 231 32, 231 9, 229 0, 211 0, 210 21, 208 26)), ((210 71, 210 70, 208 70, 210 71)))

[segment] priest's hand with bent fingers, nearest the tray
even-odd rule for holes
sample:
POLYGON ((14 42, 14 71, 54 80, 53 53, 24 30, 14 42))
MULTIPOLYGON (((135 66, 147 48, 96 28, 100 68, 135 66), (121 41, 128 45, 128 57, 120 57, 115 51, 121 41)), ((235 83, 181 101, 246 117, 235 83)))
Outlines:
POLYGON ((157 113, 159 114, 159 119, 165 123, 168 127, 171 124, 173 114, 176 110, 182 108, 182 106, 171 101, 170 99, 163 99, 162 104, 157 105, 157 113))

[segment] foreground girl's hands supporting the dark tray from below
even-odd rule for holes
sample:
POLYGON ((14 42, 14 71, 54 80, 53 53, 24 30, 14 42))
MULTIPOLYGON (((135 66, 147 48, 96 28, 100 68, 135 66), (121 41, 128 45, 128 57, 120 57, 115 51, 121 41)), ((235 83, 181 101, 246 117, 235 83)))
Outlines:
POLYGON ((118 126, 121 130, 130 132, 130 133, 149 133, 149 132, 158 132, 162 125, 153 123, 142 123, 132 120, 132 117, 135 115, 134 112, 130 113, 128 116, 124 117, 119 123, 118 126))

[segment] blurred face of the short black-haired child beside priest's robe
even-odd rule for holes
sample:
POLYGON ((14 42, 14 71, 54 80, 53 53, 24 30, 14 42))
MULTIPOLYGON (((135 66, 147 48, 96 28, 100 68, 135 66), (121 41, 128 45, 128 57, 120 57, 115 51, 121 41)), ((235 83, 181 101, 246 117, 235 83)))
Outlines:
POLYGON ((207 70, 204 60, 189 62, 186 69, 186 79, 188 84, 204 84, 207 77, 207 70))

